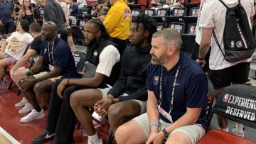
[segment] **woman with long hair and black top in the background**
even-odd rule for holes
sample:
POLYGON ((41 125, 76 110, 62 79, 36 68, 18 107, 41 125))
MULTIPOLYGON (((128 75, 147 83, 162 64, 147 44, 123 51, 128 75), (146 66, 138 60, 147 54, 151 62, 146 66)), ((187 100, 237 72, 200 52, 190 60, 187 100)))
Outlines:
POLYGON ((33 23, 36 21, 33 14, 33 7, 31 6, 30 0, 23 0, 23 5, 21 9, 18 11, 18 19, 23 18, 28 20, 29 23, 33 23))

